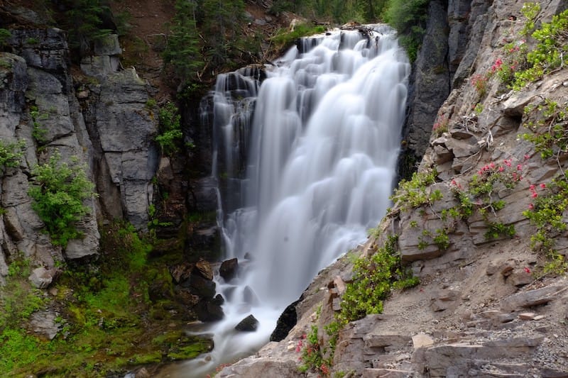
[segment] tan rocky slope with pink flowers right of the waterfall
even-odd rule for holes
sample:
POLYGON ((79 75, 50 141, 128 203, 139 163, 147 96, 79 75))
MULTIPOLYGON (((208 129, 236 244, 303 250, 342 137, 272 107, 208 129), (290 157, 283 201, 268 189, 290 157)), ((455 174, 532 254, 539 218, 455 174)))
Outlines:
MULTIPOLYGON (((556 0, 540 5, 537 26, 568 7, 556 0)), ((553 178, 568 163, 562 148, 543 159, 530 137, 520 135, 543 125, 543 118, 547 127, 566 127, 564 116, 555 113, 551 121, 542 109, 565 108, 568 74, 562 66, 517 91, 494 74, 522 39, 522 7, 523 1, 508 0, 430 4, 408 137, 416 152, 427 140, 416 178, 423 181, 399 187, 379 236, 358 249, 372 255, 388 235, 398 235, 400 256, 420 284, 395 292, 383 313, 348 323, 334 354, 325 355, 332 347, 324 326, 351 279, 349 258, 340 259, 302 294, 288 336, 219 377, 306 376, 298 367, 312 326, 332 363, 307 376, 567 377, 568 280, 565 273, 545 274, 550 255, 542 248, 553 243, 562 264, 566 231, 561 225, 547 234, 552 239, 531 241, 542 228, 527 211, 540 209, 537 198, 552 198, 553 178)), ((561 223, 563 209, 556 214, 561 223)))

